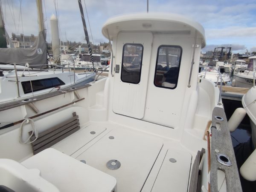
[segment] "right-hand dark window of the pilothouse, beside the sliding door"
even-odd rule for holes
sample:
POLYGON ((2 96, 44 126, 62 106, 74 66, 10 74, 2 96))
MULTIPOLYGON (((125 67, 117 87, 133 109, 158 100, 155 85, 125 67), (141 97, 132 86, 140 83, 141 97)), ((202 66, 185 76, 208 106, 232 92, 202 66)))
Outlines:
POLYGON ((180 46, 162 45, 157 50, 157 62, 154 85, 175 89, 180 71, 182 48, 180 46))

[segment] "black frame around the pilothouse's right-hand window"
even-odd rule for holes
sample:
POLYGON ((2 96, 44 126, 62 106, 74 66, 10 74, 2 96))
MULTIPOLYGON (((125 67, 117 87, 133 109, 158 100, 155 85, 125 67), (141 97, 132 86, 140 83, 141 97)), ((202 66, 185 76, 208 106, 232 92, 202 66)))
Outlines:
POLYGON ((157 49, 157 60, 156 60, 155 70, 154 70, 154 86, 160 87, 160 88, 165 88, 165 89, 175 89, 177 87, 178 79, 179 79, 179 75, 180 75, 180 63, 181 63, 182 51, 183 51, 182 47, 181 46, 177 46, 177 45, 160 45, 158 47, 158 49, 157 49), (157 63, 158 63, 158 57, 159 57, 159 50, 160 50, 161 47, 172 47, 172 48, 179 48, 180 49, 180 59, 179 59, 179 66, 178 66, 178 74, 177 74, 177 79, 176 79, 174 87, 159 86, 159 85, 157 85, 155 83, 156 77, 157 77, 157 63))

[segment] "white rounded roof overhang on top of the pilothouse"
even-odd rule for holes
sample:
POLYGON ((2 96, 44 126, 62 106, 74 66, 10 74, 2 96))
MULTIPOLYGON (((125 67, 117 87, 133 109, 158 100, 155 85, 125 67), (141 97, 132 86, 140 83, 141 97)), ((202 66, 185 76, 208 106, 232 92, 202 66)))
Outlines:
POLYGON ((102 27, 102 34, 110 40, 121 31, 151 31, 170 34, 190 34, 196 29, 198 37, 202 38, 202 48, 205 46, 204 28, 198 22, 179 14, 138 13, 125 14, 108 19, 102 27))

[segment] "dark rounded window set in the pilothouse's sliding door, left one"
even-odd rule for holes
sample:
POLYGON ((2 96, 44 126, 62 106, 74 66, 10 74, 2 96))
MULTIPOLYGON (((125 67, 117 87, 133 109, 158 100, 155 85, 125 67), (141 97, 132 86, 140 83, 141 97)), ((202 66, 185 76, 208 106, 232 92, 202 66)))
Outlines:
POLYGON ((143 45, 126 43, 122 53, 121 80, 126 83, 140 83, 143 45))

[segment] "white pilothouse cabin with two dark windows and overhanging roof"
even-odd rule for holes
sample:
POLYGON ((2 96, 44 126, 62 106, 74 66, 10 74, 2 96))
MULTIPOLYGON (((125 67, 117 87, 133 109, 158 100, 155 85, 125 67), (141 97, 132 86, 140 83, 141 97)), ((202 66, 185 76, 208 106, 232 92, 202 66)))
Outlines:
POLYGON ((180 15, 148 13, 110 19, 102 33, 113 41, 113 112, 180 127, 191 95, 198 97, 203 27, 180 15))

